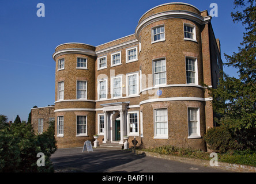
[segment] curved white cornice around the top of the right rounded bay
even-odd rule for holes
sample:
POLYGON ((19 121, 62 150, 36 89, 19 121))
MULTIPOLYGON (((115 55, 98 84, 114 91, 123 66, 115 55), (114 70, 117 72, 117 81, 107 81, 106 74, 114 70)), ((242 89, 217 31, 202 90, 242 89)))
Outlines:
POLYGON ((137 25, 137 28, 135 29, 135 37, 138 39, 139 34, 145 26, 152 24, 152 22, 165 20, 169 18, 183 18, 188 19, 191 21, 195 21, 198 24, 206 24, 210 22, 211 16, 202 17, 201 15, 186 11, 186 10, 171 10, 171 11, 164 11, 161 13, 153 14, 152 16, 146 17, 140 24, 137 25))

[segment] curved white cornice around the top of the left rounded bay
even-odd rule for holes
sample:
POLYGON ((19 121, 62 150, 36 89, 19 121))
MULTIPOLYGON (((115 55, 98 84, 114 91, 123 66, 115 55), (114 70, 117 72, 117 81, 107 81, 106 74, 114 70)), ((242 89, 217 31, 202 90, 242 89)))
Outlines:
POLYGON ((90 49, 67 48, 67 49, 61 49, 57 52, 54 52, 54 54, 52 55, 52 58, 55 60, 58 56, 68 54, 68 53, 78 53, 78 54, 84 54, 84 55, 90 55, 90 56, 97 56, 95 51, 92 51, 90 49))

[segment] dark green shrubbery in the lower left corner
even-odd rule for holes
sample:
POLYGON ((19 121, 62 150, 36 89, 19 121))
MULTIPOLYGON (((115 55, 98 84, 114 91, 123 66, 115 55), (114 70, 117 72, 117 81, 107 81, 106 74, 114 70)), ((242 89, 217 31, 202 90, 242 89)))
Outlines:
POLYGON ((14 123, 0 129, 0 172, 53 172, 50 156, 57 150, 54 124, 42 135, 35 135, 31 124, 14 123), (37 153, 45 155, 45 166, 38 167, 37 153))

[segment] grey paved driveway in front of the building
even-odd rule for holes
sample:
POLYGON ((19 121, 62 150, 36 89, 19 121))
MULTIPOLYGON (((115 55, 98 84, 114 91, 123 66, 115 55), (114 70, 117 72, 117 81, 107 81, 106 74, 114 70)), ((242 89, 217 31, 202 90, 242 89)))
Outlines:
POLYGON ((59 149, 51 156, 51 161, 57 173, 227 173, 210 166, 102 148, 93 148, 93 152, 82 152, 82 148, 59 149))

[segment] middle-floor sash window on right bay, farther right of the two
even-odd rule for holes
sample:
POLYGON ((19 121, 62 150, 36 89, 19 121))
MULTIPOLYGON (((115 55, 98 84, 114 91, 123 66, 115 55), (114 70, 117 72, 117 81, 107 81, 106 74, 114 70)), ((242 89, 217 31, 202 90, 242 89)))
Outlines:
POLYGON ((186 57, 186 76, 188 84, 198 85, 197 79, 197 59, 186 57))

